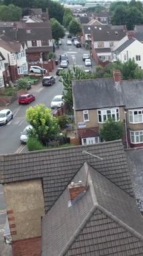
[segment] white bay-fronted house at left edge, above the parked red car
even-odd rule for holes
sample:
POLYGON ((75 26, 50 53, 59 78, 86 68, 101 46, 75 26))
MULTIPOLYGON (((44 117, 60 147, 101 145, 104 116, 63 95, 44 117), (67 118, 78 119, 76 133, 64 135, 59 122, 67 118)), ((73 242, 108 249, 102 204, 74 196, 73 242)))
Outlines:
POLYGON ((5 58, 5 72, 3 79, 5 84, 11 80, 16 81, 28 73, 28 63, 26 60, 26 45, 22 46, 19 42, 6 42, 0 40, 0 52, 5 58))

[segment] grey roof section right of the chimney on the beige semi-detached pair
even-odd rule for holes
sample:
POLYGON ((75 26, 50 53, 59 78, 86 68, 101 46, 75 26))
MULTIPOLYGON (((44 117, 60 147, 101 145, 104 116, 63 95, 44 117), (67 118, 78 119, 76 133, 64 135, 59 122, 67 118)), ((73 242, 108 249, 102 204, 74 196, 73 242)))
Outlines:
POLYGON ((143 79, 124 80, 122 89, 126 108, 143 108, 143 79))

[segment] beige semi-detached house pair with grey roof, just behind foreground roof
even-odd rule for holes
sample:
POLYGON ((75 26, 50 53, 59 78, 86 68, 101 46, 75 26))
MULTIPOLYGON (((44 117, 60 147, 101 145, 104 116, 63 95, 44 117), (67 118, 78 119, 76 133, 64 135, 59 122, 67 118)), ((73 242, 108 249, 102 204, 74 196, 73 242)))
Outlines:
POLYGON ((82 145, 99 143, 99 130, 112 117, 124 122, 127 146, 143 146, 143 80, 122 80, 118 71, 113 76, 73 82, 77 135, 82 145))

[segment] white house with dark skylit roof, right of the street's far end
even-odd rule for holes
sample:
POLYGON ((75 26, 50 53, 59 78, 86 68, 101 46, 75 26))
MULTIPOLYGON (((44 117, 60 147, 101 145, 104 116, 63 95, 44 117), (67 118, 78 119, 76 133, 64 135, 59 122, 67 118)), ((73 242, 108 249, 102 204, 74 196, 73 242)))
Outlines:
POLYGON ((91 30, 91 48, 93 59, 97 63, 111 61, 111 51, 119 44, 120 40, 128 40, 125 26, 93 26, 91 30))

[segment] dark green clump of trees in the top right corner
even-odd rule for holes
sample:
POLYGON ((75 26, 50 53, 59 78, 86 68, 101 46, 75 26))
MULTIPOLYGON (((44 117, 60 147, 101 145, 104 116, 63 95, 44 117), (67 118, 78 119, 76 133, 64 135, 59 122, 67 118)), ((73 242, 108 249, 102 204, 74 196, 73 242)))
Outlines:
POLYGON ((111 24, 126 25, 128 30, 134 30, 135 25, 143 24, 142 2, 132 0, 111 3, 109 11, 113 11, 111 24))

